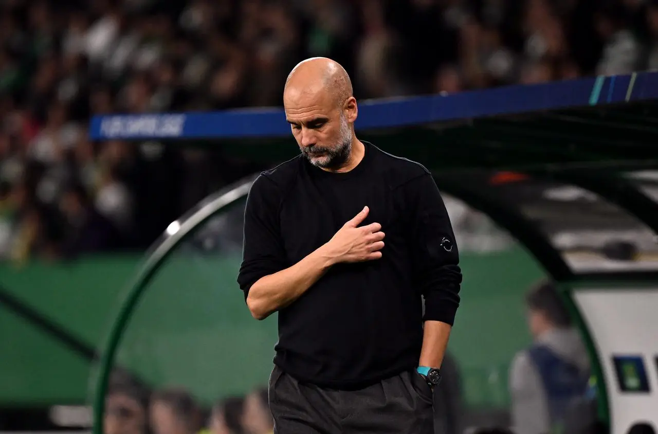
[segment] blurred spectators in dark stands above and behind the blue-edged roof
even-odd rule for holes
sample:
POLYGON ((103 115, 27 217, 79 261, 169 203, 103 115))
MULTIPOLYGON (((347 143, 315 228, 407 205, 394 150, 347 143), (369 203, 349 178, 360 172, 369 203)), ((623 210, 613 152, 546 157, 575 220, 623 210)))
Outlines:
MULTIPOLYGON (((0 259, 142 249, 263 168, 91 143, 91 115, 280 105, 306 57, 359 99, 658 68, 656 0, 4 0, 0 259)), ((291 144, 293 146, 293 144, 291 144)))

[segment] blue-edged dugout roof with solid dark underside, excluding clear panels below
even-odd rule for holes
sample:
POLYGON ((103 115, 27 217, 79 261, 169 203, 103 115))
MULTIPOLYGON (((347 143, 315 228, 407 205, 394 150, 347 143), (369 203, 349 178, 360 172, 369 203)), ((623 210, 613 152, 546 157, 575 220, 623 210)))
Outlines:
MULTIPOLYGON (((356 127, 378 146, 434 169, 530 169, 549 163, 643 167, 658 161, 657 107, 658 72, 640 72, 359 101, 356 127)), ((101 116, 92 119, 90 130, 95 140, 222 144, 267 161, 297 152, 280 107, 101 116), (279 143, 284 146, 270 146, 279 143)))

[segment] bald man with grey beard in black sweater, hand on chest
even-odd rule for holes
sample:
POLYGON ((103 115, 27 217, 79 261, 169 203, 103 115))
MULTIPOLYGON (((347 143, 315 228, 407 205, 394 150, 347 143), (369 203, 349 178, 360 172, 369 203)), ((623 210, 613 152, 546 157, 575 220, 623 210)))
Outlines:
POLYGON ((301 155, 251 187, 238 275, 253 317, 278 312, 274 432, 431 434, 461 284, 434 178, 357 139, 330 59, 293 68, 284 108, 301 155))

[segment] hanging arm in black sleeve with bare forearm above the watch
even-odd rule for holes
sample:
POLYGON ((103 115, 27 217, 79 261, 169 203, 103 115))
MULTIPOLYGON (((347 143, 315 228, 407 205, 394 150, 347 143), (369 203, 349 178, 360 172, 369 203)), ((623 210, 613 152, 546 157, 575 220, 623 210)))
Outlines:
POLYGON ((459 252, 443 198, 430 173, 409 182, 415 210, 415 274, 425 299, 419 366, 441 367, 462 280, 459 252))

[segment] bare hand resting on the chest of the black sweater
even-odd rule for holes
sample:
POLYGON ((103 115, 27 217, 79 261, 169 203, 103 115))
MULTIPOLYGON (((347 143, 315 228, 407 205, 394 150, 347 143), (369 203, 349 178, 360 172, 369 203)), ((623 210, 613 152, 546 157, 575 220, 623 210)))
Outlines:
POLYGON ((359 227, 368 216, 370 209, 364 207, 353 219, 347 221, 325 245, 336 263, 362 262, 382 258, 384 232, 382 225, 370 223, 359 227))

